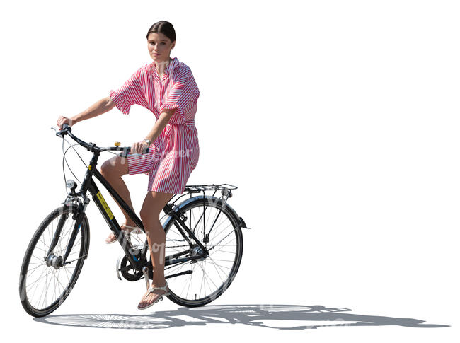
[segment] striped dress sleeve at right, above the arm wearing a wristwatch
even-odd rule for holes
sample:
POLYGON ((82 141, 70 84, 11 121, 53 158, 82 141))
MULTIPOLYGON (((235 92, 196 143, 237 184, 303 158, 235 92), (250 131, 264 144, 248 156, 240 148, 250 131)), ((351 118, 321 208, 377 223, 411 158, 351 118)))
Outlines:
POLYGON ((165 99, 163 105, 160 106, 159 112, 176 108, 178 113, 183 113, 188 104, 199 96, 200 91, 192 71, 189 68, 185 68, 178 76, 178 79, 174 81, 168 93, 165 94, 165 99))

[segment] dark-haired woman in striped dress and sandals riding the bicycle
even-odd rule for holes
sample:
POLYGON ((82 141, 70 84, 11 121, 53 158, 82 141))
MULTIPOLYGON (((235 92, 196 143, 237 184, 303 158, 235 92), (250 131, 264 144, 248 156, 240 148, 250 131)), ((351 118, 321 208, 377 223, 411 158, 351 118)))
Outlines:
MULTIPOLYGON (((147 147, 148 153, 129 155, 127 163, 126 158, 115 156, 105 161, 100 168, 100 173, 131 209, 130 192, 122 175, 149 175, 148 192, 140 218, 147 234, 154 279, 149 291, 142 297, 137 307, 139 309, 149 308, 163 294, 168 294, 164 277, 166 235, 159 220, 160 211, 174 194, 183 193, 185 183, 200 155, 194 120, 200 91, 190 68, 179 62, 177 57, 170 57, 176 45, 173 25, 167 21, 154 23, 146 37, 154 62, 139 68, 123 86, 116 91, 111 90, 107 98, 99 100, 79 115, 71 118, 60 116, 57 120, 57 126, 61 129, 63 124, 71 126, 81 120, 102 115, 115 106, 127 115, 134 104, 146 107, 156 117, 154 126, 150 132, 146 132, 144 140, 131 147, 132 154, 139 154, 147 147)), ((134 222, 126 212, 121 210, 126 218, 122 229, 127 232, 139 230, 134 227, 134 222)), ((105 242, 113 243, 116 240, 113 233, 110 233, 105 242)))

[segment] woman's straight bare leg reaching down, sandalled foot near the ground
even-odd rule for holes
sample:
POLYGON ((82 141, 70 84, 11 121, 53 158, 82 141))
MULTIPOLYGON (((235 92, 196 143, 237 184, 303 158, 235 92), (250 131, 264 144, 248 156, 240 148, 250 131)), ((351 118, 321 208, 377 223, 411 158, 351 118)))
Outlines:
MULTIPOLYGON (((154 279, 151 286, 162 287, 166 284, 164 278, 165 243, 166 234, 161 226, 160 212, 164 205, 173 197, 173 193, 147 192, 142 204, 141 219, 147 234, 147 241, 150 248, 151 262, 154 267, 154 279)), ((139 307, 144 307, 156 301, 156 298, 164 294, 164 291, 155 290, 154 293, 144 294, 139 307)))

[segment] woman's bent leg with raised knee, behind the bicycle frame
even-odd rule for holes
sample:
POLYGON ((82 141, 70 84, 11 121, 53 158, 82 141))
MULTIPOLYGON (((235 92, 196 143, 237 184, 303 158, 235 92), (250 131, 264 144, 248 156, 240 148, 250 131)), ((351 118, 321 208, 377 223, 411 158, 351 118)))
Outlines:
MULTIPOLYGON (((106 178, 108 180, 110 185, 112 185, 112 187, 115 188, 117 193, 120 194, 120 197, 122 197, 122 199, 125 200, 126 204, 131 209, 133 209, 132 202, 131 202, 130 191, 126 187, 125 181, 123 181, 123 179, 122 179, 122 175, 126 175, 126 174, 129 173, 128 172, 128 163, 126 161, 126 158, 120 157, 120 156, 114 156, 113 158, 110 158, 109 160, 105 161, 100 166, 100 173, 103 175, 104 178, 106 178)), ((118 203, 117 203, 117 205, 118 205, 118 203)), ((120 207, 120 205, 118 205, 118 207, 120 207)), ((123 215, 125 216, 126 225, 128 225, 128 226, 136 226, 134 221, 132 221, 130 216, 127 215, 125 210, 123 210, 121 207, 120 207, 120 209, 122 210, 123 215)), ((110 242, 110 241, 113 241, 114 238, 115 238, 115 235, 111 232, 110 235, 108 236, 108 238, 105 241, 110 242)))

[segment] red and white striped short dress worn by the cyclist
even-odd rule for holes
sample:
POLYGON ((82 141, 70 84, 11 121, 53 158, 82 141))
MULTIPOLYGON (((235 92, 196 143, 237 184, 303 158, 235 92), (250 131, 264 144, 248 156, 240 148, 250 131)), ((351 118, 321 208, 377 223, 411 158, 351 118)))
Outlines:
MULTIPOLYGON (((157 120, 163 110, 176 108, 166 127, 150 145, 149 153, 127 157, 130 175, 149 175, 147 190, 183 193, 200 156, 195 127, 199 96, 192 71, 177 57, 171 59, 161 78, 152 62, 139 68, 116 91, 110 90, 110 98, 125 115, 134 104, 146 107, 157 120)), ((143 128, 142 134, 150 129, 143 128)))

